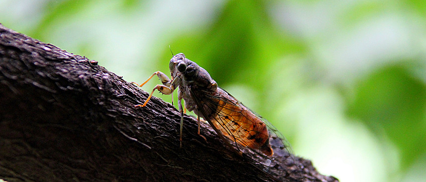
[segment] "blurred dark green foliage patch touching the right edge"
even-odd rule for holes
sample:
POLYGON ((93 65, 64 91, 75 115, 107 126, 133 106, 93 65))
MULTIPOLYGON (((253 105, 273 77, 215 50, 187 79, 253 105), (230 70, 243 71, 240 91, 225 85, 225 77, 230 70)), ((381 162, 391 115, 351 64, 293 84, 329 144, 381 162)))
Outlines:
POLYGON ((355 93, 348 104, 349 116, 359 118, 372 132, 385 132, 403 159, 401 169, 406 170, 426 148, 426 85, 409 68, 391 65, 362 79, 355 93))

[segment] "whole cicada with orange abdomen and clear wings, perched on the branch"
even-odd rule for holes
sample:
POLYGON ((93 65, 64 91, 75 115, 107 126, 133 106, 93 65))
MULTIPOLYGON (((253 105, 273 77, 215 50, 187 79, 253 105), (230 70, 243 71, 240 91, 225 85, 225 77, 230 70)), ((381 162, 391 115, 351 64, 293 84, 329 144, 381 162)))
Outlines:
MULTIPOLYGON (((143 86, 153 76, 157 75, 162 85, 156 85, 143 104, 144 107, 155 90, 163 94, 177 91, 180 120, 180 146, 182 144, 183 106, 197 115, 198 135, 200 117, 203 118, 225 141, 226 144, 240 155, 251 156, 264 166, 275 166, 275 160, 286 160, 290 156, 289 145, 284 137, 266 120, 244 106, 227 91, 218 87, 208 72, 195 62, 185 58, 183 53, 174 55, 169 63, 171 80, 162 72, 153 73, 143 86), (275 155, 274 155, 275 151, 275 155)), ((134 82, 133 82, 134 83, 134 82)), ((281 163, 280 162, 280 163, 281 163)), ((265 170, 264 170, 265 171, 265 170)))

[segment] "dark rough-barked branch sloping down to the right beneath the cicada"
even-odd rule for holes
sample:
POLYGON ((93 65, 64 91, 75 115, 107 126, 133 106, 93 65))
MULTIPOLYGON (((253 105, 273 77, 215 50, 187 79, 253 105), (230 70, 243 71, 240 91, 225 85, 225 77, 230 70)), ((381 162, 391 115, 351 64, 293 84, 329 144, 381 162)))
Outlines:
MULTIPOLYGON (((97 65, 0 24, 0 179, 273 181, 208 126, 97 65)), ((334 182, 311 162, 282 181, 334 182), (299 178, 303 177, 303 178, 299 178)))

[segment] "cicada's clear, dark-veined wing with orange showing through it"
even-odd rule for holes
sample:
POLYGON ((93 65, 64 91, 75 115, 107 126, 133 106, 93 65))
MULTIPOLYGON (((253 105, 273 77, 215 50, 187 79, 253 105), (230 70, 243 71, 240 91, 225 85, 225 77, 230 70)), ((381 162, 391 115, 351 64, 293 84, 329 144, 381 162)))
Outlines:
MULTIPOLYGON (((288 144, 284 137, 269 122, 256 115, 225 90, 221 88, 216 92, 190 90, 198 112, 221 133, 219 135, 258 155, 271 156, 274 150, 278 150, 278 154, 282 156, 289 155, 288 144), (271 146, 270 142, 274 145, 271 146)), ((236 146, 237 150, 242 151, 238 145, 236 146)))

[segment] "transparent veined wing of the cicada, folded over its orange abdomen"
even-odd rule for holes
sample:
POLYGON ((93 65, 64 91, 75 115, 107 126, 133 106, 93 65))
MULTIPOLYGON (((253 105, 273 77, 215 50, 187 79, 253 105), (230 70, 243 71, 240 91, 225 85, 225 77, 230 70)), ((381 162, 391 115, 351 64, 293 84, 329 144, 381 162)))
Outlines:
POLYGON ((290 145, 284 136, 231 94, 220 88, 216 92, 190 89, 190 93, 201 117, 236 151, 262 165, 264 172, 272 167, 294 165, 290 145), (268 147, 273 155, 268 153, 268 147))

